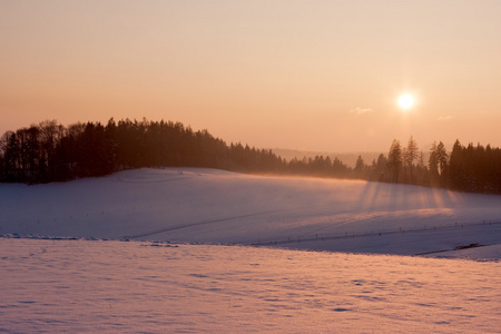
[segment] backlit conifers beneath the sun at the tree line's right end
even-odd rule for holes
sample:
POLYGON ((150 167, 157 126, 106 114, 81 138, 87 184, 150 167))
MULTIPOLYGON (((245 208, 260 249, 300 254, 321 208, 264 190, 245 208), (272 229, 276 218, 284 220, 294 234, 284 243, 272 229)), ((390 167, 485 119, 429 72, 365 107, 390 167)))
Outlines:
POLYGON ((425 155, 411 136, 406 146, 394 139, 387 156, 381 154, 372 165, 358 157, 354 174, 367 180, 501 194, 501 149, 456 140, 448 153, 442 141, 435 141, 425 155))

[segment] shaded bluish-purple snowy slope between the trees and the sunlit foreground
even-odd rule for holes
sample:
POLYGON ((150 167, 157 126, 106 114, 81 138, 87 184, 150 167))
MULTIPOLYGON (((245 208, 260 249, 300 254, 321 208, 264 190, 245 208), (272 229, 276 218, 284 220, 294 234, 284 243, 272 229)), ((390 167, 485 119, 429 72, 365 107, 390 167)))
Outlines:
POLYGON ((214 169, 0 185, 0 234, 411 255, 501 244, 500 222, 500 196, 214 169))

